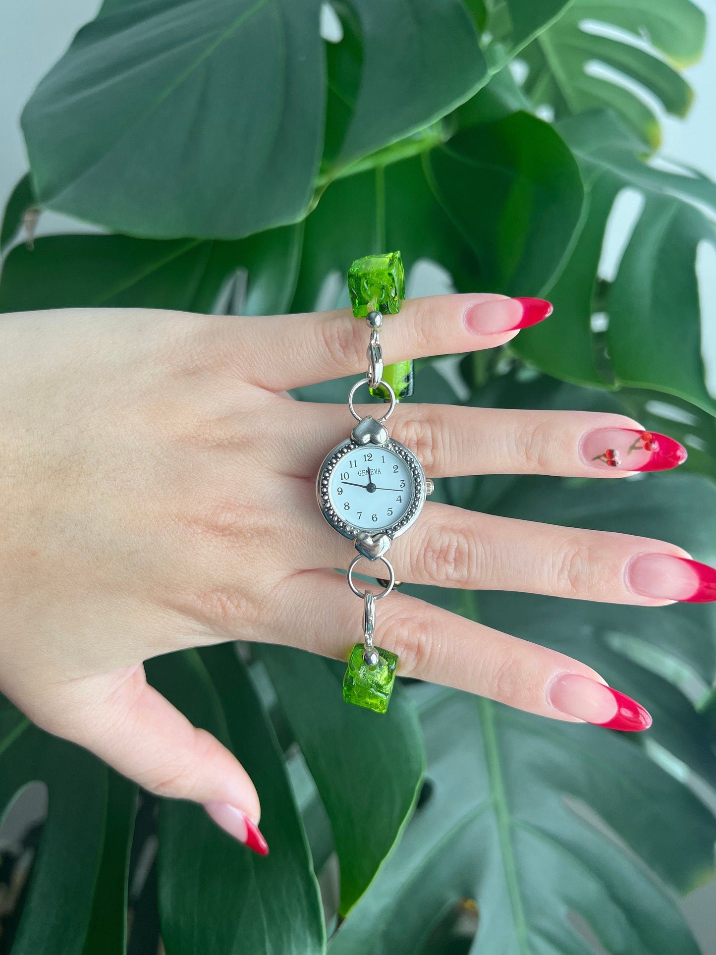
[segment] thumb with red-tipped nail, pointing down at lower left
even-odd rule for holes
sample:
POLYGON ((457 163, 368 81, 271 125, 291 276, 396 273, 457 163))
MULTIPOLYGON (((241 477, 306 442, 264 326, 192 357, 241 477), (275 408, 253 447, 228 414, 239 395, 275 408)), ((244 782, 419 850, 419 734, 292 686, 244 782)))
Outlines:
POLYGON ((43 729, 84 746, 150 793, 200 802, 229 835, 267 855, 259 796, 242 764, 150 687, 141 664, 62 685, 53 710, 36 720, 43 729))

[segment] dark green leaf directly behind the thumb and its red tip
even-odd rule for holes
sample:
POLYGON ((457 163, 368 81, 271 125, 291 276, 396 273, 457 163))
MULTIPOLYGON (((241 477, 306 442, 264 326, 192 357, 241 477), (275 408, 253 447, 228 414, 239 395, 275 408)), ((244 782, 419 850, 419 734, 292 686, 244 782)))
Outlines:
POLYGON ((241 759, 262 799, 270 855, 260 858, 227 836, 200 806, 164 801, 159 908, 167 955, 319 955, 321 902, 282 753, 235 648, 215 647, 201 656, 203 662, 194 651, 173 653, 147 669, 196 726, 241 759))

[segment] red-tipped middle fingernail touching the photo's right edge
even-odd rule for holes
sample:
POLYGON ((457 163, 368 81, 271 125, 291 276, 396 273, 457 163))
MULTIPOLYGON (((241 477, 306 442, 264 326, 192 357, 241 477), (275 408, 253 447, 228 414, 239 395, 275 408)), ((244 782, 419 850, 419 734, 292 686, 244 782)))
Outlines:
POLYGON ((706 604, 716 600, 716 568, 670 554, 638 554, 626 565, 627 586, 642 597, 706 604))

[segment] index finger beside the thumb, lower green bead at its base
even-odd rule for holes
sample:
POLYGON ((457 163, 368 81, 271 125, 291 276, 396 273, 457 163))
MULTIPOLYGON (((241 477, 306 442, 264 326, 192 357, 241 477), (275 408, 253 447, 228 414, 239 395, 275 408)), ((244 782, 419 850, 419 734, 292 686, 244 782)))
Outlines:
MULTIPOLYGON (((324 570, 285 582, 275 627, 277 643, 292 634, 295 646, 347 659, 360 639, 361 605, 344 577, 324 570), (356 634, 351 639, 349 634, 356 634)), ((646 730, 651 717, 595 670, 549 647, 396 593, 377 605, 376 644, 398 655, 398 673, 571 722, 614 730, 646 730)))

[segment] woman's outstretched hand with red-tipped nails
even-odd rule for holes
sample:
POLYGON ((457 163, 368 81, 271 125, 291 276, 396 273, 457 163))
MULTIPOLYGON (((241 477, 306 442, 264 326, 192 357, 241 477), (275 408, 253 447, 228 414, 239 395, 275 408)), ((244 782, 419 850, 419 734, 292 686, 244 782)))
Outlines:
MULTIPOLYGON (((386 362, 492 348, 529 323, 518 300, 407 302, 386 362)), ((154 793, 194 799, 264 847, 235 757, 144 678, 142 661, 218 640, 346 658, 354 551, 315 478, 352 426, 345 405, 285 391, 365 371, 347 312, 244 319, 86 309, 3 316, 0 689, 154 793)), ((620 477, 684 449, 616 414, 406 404, 390 418, 431 477, 620 477)), ((716 573, 647 538, 427 503, 390 559, 398 580, 656 606, 716 598, 716 573)), ((558 719, 643 729, 648 714, 554 650, 403 593, 381 606, 399 672, 558 719)))

